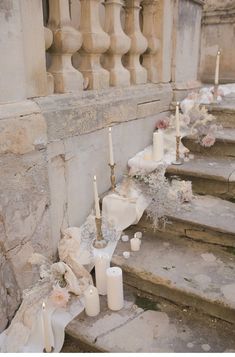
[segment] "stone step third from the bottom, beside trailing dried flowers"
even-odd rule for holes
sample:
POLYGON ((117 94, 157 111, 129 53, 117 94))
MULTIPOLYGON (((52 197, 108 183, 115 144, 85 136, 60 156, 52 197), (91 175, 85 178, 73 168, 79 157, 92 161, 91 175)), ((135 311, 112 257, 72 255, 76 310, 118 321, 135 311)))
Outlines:
MULTIPOLYGON (((178 212, 167 218, 163 232, 235 248, 235 203, 213 196, 195 196, 192 202, 184 203, 178 212)), ((146 215, 139 226, 153 229, 146 215)))

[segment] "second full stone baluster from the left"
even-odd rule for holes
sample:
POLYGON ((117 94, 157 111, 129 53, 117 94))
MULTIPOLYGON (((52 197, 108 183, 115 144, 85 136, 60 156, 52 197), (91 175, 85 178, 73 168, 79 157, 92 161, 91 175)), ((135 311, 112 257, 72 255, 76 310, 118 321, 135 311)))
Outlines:
POLYGON ((103 31, 99 19, 100 0, 80 0, 81 32, 83 35, 81 63, 79 70, 84 78, 88 78, 89 89, 109 87, 109 72, 101 67, 101 54, 110 45, 109 36, 103 31))

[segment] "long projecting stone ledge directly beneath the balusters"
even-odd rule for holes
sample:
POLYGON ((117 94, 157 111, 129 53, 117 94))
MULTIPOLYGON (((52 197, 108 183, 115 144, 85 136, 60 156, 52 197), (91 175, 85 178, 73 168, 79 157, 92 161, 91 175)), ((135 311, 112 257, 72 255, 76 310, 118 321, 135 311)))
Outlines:
POLYGON ((54 141, 167 111, 172 89, 170 84, 145 84, 52 95, 34 101, 47 121, 49 141, 54 141))

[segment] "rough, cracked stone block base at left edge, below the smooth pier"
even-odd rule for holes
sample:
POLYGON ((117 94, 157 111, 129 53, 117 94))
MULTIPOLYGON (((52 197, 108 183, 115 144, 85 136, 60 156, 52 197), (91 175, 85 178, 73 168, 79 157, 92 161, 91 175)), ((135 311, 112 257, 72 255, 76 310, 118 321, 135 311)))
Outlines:
POLYGON ((47 125, 31 101, 0 106, 0 331, 38 278, 32 252, 52 256, 47 125))

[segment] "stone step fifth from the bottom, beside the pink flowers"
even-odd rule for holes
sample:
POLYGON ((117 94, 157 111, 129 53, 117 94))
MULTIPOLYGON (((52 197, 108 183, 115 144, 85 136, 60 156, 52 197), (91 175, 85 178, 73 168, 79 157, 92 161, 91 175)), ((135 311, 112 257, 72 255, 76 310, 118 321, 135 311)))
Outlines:
POLYGON ((192 153, 235 157, 235 129, 232 128, 224 128, 223 131, 216 133, 215 144, 210 148, 201 146, 193 136, 185 136, 182 143, 192 153))

